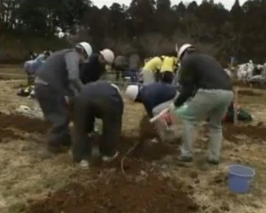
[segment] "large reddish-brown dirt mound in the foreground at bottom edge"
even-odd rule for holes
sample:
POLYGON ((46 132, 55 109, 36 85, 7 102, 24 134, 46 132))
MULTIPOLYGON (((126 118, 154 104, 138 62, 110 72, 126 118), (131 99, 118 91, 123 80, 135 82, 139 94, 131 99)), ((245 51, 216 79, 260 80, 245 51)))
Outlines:
POLYGON ((93 186, 68 185, 27 213, 192 213, 199 207, 172 180, 143 172, 125 177, 116 172, 98 177, 93 186))

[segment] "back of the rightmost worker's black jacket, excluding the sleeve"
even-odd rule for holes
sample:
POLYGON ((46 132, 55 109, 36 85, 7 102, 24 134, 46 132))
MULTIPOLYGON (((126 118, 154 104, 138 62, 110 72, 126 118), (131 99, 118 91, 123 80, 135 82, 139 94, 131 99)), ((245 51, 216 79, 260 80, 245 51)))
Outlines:
MULTIPOLYGON (((213 57, 200 53, 192 53, 184 59, 181 63, 181 67, 183 65, 189 69, 187 70, 188 73, 184 75, 189 75, 190 70, 194 70, 196 89, 232 90, 230 77, 213 57)), ((184 72, 186 72, 186 70, 184 72)))

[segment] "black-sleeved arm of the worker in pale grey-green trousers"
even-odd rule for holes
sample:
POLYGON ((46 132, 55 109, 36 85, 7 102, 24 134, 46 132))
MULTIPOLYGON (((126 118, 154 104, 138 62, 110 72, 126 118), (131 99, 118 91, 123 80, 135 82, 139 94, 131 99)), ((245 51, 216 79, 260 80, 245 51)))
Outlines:
POLYGON ((191 62, 189 60, 184 61, 179 71, 179 83, 181 85, 181 90, 175 101, 176 107, 182 106, 187 99, 192 97, 194 91, 194 70, 190 64, 191 62))

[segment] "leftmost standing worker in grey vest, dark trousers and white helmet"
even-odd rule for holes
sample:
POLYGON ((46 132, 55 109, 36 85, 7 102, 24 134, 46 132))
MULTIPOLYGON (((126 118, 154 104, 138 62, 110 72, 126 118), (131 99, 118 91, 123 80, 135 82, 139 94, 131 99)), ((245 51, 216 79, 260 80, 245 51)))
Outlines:
POLYGON ((77 43, 73 49, 54 52, 35 72, 35 99, 46 120, 51 122, 48 150, 66 151, 71 146, 69 112, 65 97, 74 99, 82 90, 79 65, 92 53, 90 43, 77 43))

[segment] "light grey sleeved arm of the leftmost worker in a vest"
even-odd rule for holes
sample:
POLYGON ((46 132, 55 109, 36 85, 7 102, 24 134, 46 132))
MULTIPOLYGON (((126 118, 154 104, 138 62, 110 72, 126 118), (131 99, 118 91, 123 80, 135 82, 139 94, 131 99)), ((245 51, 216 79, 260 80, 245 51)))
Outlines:
POLYGON ((70 91, 73 91, 73 89, 75 89, 76 91, 81 91, 83 84, 79 78, 79 58, 75 52, 67 52, 65 59, 69 81, 68 89, 70 91))

